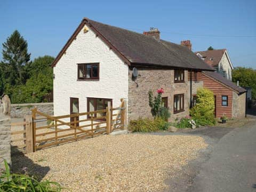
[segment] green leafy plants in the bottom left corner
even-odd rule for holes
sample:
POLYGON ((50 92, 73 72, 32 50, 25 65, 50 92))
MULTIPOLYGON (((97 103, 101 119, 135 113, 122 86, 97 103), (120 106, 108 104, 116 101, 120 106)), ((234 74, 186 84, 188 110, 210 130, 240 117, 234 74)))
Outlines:
POLYGON ((10 168, 4 160, 5 171, 0 172, 0 191, 44 191, 44 192, 58 192, 61 191, 60 184, 51 181, 37 181, 33 177, 25 174, 10 173, 10 168))

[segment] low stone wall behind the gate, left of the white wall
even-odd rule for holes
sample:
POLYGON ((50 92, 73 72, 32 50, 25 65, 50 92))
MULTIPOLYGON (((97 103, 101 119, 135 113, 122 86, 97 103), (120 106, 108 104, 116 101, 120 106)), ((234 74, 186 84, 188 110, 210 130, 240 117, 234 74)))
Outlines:
POLYGON ((21 103, 11 104, 11 117, 23 118, 25 115, 31 114, 31 109, 37 108, 38 111, 47 115, 53 115, 53 103, 21 103))

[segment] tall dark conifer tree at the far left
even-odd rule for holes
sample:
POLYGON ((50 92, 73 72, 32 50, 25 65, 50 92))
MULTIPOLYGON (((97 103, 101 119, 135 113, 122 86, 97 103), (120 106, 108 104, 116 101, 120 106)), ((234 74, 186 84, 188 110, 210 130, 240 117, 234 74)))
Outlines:
MULTIPOLYGON (((5 84, 24 84, 24 66, 30 60, 27 41, 15 30, 3 43, 3 73, 5 84)), ((7 86, 8 87, 8 86, 7 86)))

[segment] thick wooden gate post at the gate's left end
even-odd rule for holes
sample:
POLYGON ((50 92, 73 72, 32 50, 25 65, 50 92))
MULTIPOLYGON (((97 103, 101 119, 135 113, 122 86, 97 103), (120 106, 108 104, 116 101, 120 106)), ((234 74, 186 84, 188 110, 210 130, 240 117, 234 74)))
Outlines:
POLYGON ((26 153, 34 152, 32 115, 26 115, 26 153))

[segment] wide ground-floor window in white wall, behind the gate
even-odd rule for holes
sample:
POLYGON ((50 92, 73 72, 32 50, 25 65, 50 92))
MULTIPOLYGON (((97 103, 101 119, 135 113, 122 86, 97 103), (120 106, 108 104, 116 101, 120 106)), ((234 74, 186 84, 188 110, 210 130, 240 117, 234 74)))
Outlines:
MULTIPOLYGON (((87 111, 95 111, 95 110, 102 110, 108 107, 108 102, 111 102, 112 106, 112 99, 100 99, 100 98, 87 98, 87 111)), ((103 117, 106 116, 106 113, 95 113, 90 114, 87 117, 103 117)), ((105 118, 102 118, 105 119, 105 118)))

